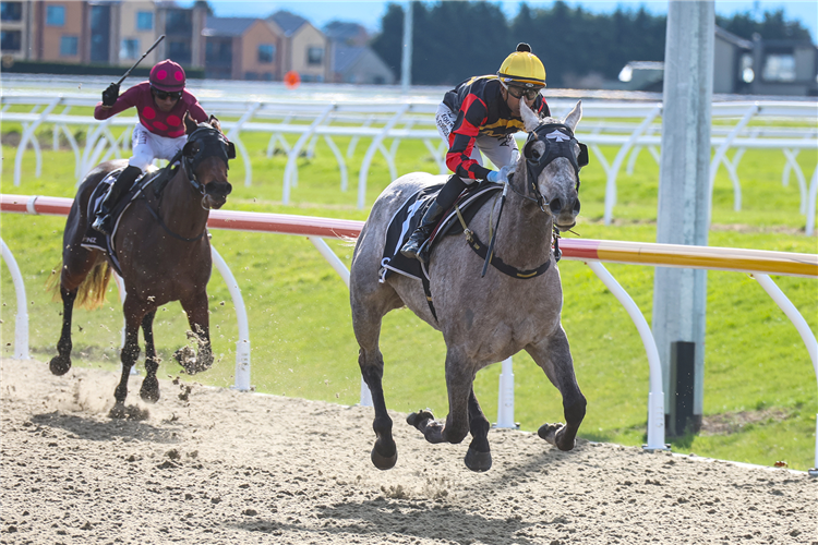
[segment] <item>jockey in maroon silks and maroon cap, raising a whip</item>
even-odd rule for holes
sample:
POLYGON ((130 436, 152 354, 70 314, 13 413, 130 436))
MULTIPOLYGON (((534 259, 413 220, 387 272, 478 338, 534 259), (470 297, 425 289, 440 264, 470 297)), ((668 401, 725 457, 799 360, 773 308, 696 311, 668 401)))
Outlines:
POLYGON ((103 92, 103 101, 94 109, 94 119, 108 119, 135 107, 140 122, 133 129, 133 157, 108 190, 92 225, 97 231, 111 233, 111 210, 154 159, 170 160, 184 147, 188 140, 184 114, 190 113, 197 123, 207 121, 207 114, 196 97, 184 88, 184 82, 182 66, 171 60, 164 60, 151 69, 147 82, 134 85, 122 96, 119 96, 119 85, 116 83, 103 92))

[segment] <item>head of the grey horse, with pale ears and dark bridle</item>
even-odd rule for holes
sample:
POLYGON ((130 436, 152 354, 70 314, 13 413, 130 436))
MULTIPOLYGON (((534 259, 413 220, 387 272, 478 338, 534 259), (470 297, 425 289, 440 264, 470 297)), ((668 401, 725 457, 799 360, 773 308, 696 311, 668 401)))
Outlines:
POLYGON ((524 192, 533 194, 558 229, 570 229, 579 214, 579 169, 588 165, 588 147, 574 136, 582 117, 582 101, 563 121, 540 118, 525 102, 520 104, 520 113, 528 140, 515 178, 525 180, 524 192))

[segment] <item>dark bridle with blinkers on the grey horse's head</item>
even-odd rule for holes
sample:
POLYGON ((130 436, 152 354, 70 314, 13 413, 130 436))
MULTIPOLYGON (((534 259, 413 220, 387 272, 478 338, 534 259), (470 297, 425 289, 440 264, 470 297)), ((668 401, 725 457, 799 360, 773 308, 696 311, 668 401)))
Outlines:
POLYGON ((522 156, 526 158, 526 193, 519 192, 512 184, 512 180, 508 181, 508 185, 512 191, 522 198, 536 203, 542 211, 546 211, 545 198, 537 186, 537 180, 545 167, 551 165, 554 159, 558 157, 568 159, 572 167, 574 167, 574 173, 577 179, 576 190, 579 193, 579 169, 588 165, 588 146, 577 141, 576 136, 574 136, 574 131, 569 126, 563 123, 546 123, 538 126, 526 138, 526 144, 522 146, 522 156), (545 153, 533 158, 533 145, 536 142, 545 144, 545 153), (579 145, 579 155, 574 154, 575 144, 579 145), (529 196, 529 193, 532 193, 534 196, 529 196))

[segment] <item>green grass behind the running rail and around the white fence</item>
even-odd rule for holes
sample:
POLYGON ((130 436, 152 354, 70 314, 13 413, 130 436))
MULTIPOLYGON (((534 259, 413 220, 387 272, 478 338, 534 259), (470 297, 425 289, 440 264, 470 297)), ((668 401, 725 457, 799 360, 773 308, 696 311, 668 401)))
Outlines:
MULTIPOLYGON (((3 128, 8 131, 9 128, 3 128)), ((48 136, 49 133, 46 133, 48 136)), ((365 219, 356 209, 358 168, 368 141, 358 144, 347 160, 350 187, 339 190, 339 174, 323 142, 314 159, 299 160, 299 184, 291 206, 282 206, 281 178, 286 157, 264 154, 267 137, 243 135, 252 153, 253 183, 244 186, 242 162, 233 161, 233 193, 227 209, 303 214, 365 219)), ((290 138, 293 143, 294 138, 290 138)), ((346 153, 348 141, 338 138, 346 153)), ((386 142, 387 147, 389 142, 386 142)), ((609 161, 614 148, 603 148, 609 161)), ((69 196, 74 194, 73 155, 44 148, 43 177, 35 179, 34 154, 25 156, 20 187, 12 185, 15 149, 3 147, 0 192, 69 196)), ((732 154, 731 154, 732 157, 732 154)), ((798 161, 806 175, 818 157, 802 152, 798 161)), ((421 143, 401 142, 398 171, 436 172, 421 143)), ((715 183, 713 246, 816 253, 816 238, 804 235, 805 218, 798 214, 799 193, 794 175, 781 186, 784 157, 780 152, 748 152, 738 167, 743 210, 733 211, 732 185, 722 169, 715 183)), ((633 175, 621 172, 615 225, 601 222, 605 175, 591 158, 582 172, 582 215, 576 230, 588 239, 655 241, 659 167, 642 152, 633 175)), ((371 204, 389 181, 378 155, 369 175, 366 203, 371 204)), ((28 299, 31 350, 47 361, 56 353, 61 304, 43 289, 60 259, 64 218, 1 214, 0 231, 23 271, 28 299)), ((328 241, 347 266, 352 247, 328 241)), ((348 291, 334 270, 304 238, 214 231, 213 244, 229 264, 246 304, 252 348, 252 384, 258 391, 356 403, 360 392, 358 347, 352 336, 348 291)), ((630 293, 651 320, 653 268, 610 265, 609 270, 630 293)), ((560 265, 565 307, 563 324, 572 342, 576 373, 588 398, 588 414, 580 436, 640 445, 647 421, 648 364, 641 340, 625 310, 585 265, 560 265)), ((818 330, 818 283, 814 279, 774 277, 774 280, 818 330)), ((2 350, 12 355, 15 299, 11 277, 0 268, 0 336, 2 350)), ((236 312, 224 280, 214 271, 208 287, 213 341, 218 364, 197 382, 230 386, 233 383, 236 312), (222 304, 224 303, 224 304, 222 304)), ((774 409, 777 419, 751 421, 729 435, 698 435, 676 440, 678 451, 694 451, 736 461, 772 464, 786 460, 791 468, 813 467, 815 415, 818 412, 816 376, 797 331, 766 292, 748 276, 709 272, 705 354, 705 416, 761 414, 774 409)), ((74 364, 115 370, 122 327, 121 306, 112 286, 107 304, 97 311, 74 313, 74 364)), ((164 360, 160 376, 179 373, 172 352, 184 341, 187 320, 178 303, 164 307, 155 323, 157 349, 164 360)), ((438 416, 447 410, 443 361, 445 346, 436 331, 407 310, 386 316, 382 351, 386 360, 384 386, 390 409, 432 408, 438 416)), ((496 415, 500 365, 481 372, 476 391, 490 420, 496 415)), ((562 420, 557 390, 526 354, 515 356, 515 417, 524 429, 562 420)), ((111 392, 112 393, 112 392, 111 392)), ((135 392, 133 392, 135 393, 135 392)), ((398 424, 401 425, 401 424, 398 424)), ((362 423, 361 433, 369 432, 362 423)))

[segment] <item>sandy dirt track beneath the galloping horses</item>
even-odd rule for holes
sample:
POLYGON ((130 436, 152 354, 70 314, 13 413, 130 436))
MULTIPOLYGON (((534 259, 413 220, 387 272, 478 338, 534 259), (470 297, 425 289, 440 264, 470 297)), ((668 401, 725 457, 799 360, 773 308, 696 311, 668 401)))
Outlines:
POLYGON ((381 472, 366 408, 163 382, 145 420, 111 421, 110 373, 0 378, 0 543, 818 544, 806 473, 493 431, 474 474, 399 413, 381 472))

